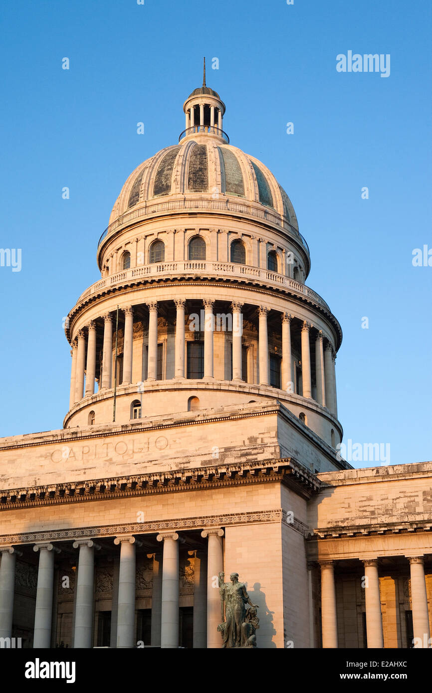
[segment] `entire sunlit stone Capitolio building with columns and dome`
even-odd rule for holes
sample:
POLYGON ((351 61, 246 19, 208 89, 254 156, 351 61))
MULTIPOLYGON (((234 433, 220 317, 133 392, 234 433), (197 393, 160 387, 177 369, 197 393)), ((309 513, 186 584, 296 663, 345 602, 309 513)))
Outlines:
POLYGON ((428 647, 432 463, 338 454, 293 204, 205 80, 183 111, 69 311, 63 428, 0 439, 0 644, 428 647))

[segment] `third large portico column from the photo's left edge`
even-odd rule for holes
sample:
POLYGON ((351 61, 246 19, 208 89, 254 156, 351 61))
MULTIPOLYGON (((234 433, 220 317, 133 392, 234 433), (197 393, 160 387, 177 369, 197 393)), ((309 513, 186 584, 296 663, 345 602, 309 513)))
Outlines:
POLYGON ((74 541, 80 550, 76 577, 74 648, 92 647, 94 612, 94 550, 100 546, 92 539, 74 541))

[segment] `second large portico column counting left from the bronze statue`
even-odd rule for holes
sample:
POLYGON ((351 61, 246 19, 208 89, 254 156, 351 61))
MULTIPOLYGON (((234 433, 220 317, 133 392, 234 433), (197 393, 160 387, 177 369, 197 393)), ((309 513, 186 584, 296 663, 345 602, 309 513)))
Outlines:
POLYGON ((178 647, 178 602, 179 602, 179 563, 178 534, 158 534, 157 541, 164 542, 164 562, 162 564, 162 649, 178 647))

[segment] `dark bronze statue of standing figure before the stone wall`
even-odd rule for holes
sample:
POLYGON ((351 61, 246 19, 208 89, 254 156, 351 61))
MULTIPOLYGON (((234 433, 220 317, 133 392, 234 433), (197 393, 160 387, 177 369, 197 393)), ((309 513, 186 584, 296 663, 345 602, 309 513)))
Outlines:
POLYGON ((225 575, 219 573, 219 592, 223 622, 218 625, 222 634, 222 647, 257 647, 255 631, 259 628, 257 604, 252 604, 246 587, 239 582, 239 574, 232 572, 231 582, 224 582, 225 575), (250 608, 246 609, 246 604, 250 608))

